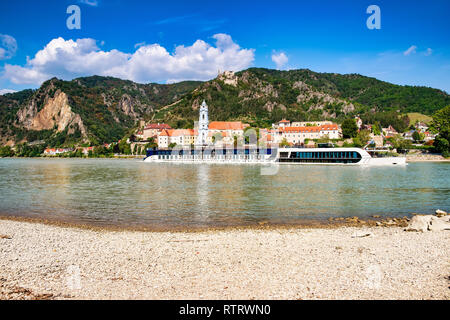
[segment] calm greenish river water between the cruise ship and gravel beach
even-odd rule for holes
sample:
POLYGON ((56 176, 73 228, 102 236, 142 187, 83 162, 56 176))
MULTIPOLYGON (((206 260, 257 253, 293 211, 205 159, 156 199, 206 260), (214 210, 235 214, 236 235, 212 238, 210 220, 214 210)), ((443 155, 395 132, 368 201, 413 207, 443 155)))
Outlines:
POLYGON ((189 228, 403 217, 450 209, 450 163, 283 164, 266 169, 116 159, 0 159, 0 215, 189 228))

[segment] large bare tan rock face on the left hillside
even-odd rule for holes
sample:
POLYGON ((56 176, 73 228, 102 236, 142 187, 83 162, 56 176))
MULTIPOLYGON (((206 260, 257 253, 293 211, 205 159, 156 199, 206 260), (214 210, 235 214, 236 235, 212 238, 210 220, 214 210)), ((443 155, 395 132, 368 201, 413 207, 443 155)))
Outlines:
POLYGON ((38 111, 36 100, 20 109, 17 113, 19 123, 28 130, 51 130, 56 128, 58 132, 69 128, 68 133, 73 133, 78 126, 81 134, 86 136, 86 129, 80 115, 74 113, 69 105, 67 95, 57 90, 53 98, 47 98, 44 107, 38 111))

